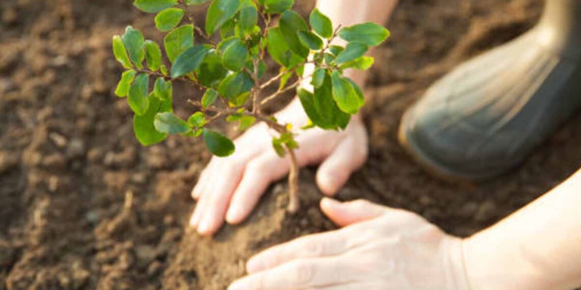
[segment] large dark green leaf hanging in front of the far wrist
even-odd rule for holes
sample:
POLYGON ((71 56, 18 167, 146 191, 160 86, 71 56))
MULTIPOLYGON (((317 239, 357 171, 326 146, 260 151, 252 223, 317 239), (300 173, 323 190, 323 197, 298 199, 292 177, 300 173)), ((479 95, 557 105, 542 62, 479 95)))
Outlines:
POLYGON ((299 89, 297 94, 314 125, 326 130, 347 128, 351 115, 341 111, 333 100, 332 81, 328 73, 325 74, 323 84, 315 88, 314 94, 304 89, 299 89))

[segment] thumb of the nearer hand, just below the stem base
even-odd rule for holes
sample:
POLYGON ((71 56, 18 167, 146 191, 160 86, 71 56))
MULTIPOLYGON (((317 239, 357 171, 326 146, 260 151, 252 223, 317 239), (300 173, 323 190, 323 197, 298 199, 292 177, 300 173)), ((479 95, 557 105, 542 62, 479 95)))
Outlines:
POLYGON ((339 202, 327 197, 321 200, 321 210, 340 227, 379 218, 387 212, 383 206, 369 201, 339 202))

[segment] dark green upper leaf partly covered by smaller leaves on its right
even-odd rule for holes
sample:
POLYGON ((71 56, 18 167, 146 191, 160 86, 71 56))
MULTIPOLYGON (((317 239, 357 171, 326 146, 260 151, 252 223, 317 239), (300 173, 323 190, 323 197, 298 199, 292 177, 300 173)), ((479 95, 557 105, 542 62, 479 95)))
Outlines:
POLYGON ((309 56, 309 49, 300 42, 299 35, 297 35, 299 30, 309 30, 309 26, 303 17, 292 10, 286 10, 282 13, 279 23, 282 36, 290 50, 303 58, 309 56))

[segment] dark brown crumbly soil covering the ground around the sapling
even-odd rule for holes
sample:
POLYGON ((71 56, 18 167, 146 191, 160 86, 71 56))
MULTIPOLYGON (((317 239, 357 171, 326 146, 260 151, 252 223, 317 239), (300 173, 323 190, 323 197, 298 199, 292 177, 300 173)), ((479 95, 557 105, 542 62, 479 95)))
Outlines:
MULTIPOLYGON (((410 209, 465 236, 578 169, 581 118, 521 168, 480 184, 426 175, 396 142, 401 114, 437 77, 527 30, 541 6, 403 1, 370 79, 370 159, 339 197, 410 209)), ((189 191, 209 154, 185 137, 139 146, 112 93, 121 71, 112 35, 134 24, 159 40, 152 16, 129 0, 3 0, 0 14, 0 290, 224 289, 260 249, 333 228, 307 169, 299 215, 286 215, 281 183, 242 226, 213 240, 189 233, 189 191)))

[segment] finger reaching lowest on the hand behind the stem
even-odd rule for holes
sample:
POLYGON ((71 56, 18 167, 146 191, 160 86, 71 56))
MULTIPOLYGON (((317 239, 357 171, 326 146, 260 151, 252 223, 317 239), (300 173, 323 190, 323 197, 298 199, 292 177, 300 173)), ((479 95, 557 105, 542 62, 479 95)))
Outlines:
POLYGON ((212 235, 224 223, 230 198, 242 178, 242 166, 240 163, 232 162, 227 166, 220 166, 220 173, 212 176, 211 183, 206 186, 205 194, 209 195, 209 201, 205 204, 203 216, 200 217, 199 234, 212 235))

